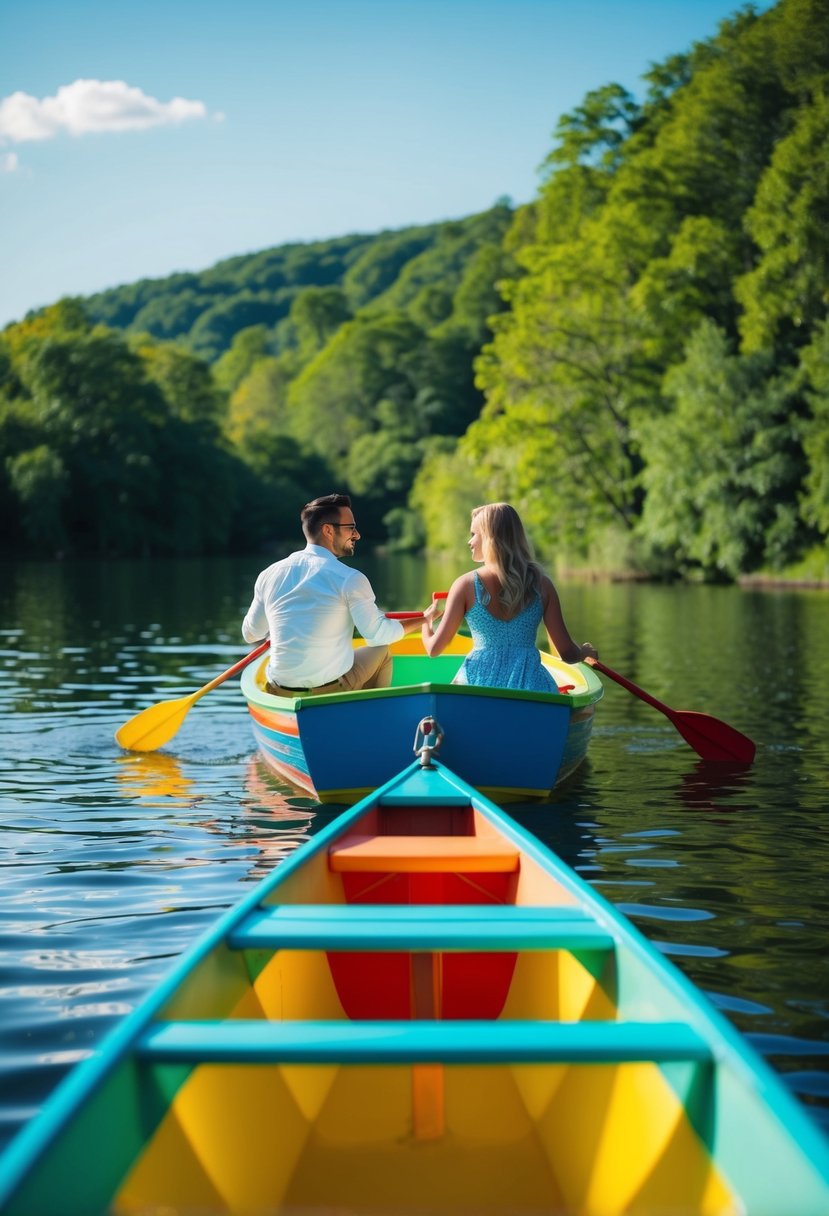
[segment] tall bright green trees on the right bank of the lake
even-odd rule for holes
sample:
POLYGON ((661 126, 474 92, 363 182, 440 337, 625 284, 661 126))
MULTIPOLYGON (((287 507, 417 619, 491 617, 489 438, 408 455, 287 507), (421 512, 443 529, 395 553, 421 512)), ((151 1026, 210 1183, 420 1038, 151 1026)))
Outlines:
MULTIPOLYGON (((486 405, 414 501, 474 471, 542 547, 733 578, 827 541, 829 22, 750 11, 559 123, 507 247, 486 405)), ((457 529, 456 529, 457 533, 457 529)))

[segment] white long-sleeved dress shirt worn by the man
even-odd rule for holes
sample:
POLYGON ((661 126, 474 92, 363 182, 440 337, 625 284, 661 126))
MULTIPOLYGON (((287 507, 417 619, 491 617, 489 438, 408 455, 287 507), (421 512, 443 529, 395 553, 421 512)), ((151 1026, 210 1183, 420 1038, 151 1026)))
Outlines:
POLYGON ((316 688, 351 670, 355 625, 370 646, 388 646, 405 632, 379 610, 365 574, 309 544, 261 572, 242 636, 258 642, 270 632, 270 681, 316 688))

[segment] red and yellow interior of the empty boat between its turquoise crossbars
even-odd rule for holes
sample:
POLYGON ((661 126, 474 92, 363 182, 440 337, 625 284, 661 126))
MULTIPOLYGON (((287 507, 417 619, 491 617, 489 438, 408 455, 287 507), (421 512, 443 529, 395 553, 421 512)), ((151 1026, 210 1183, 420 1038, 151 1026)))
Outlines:
MULTIPOLYGON (((273 905, 575 905, 472 807, 446 807, 438 826, 433 807, 428 824, 417 810, 371 811, 286 879, 273 905)), ((497 1021, 616 1021, 613 959, 221 944, 159 1020, 447 1020, 478 1010, 497 1021)), ((699 1073, 672 1068, 669 1083, 649 1062, 142 1064, 135 1118, 156 1126, 112 1211, 741 1211, 686 1114, 699 1073)))

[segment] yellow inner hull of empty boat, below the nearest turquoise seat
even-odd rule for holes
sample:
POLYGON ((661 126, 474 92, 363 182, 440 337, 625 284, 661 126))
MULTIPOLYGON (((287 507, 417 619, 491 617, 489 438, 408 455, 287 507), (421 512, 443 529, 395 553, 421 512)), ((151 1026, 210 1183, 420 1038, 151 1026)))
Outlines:
POLYGON ((114 1210, 741 1206, 656 1065, 202 1065, 114 1210))

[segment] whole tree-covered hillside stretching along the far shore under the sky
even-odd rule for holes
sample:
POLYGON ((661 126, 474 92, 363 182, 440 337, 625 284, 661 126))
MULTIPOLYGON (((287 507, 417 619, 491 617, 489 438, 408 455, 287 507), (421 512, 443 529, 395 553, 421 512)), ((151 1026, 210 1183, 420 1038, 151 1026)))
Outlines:
POLYGON ((0 334, 11 552, 259 548, 327 489, 461 552, 509 499, 573 564, 827 567, 829 19, 750 9, 600 84, 536 199, 293 244, 0 334))

